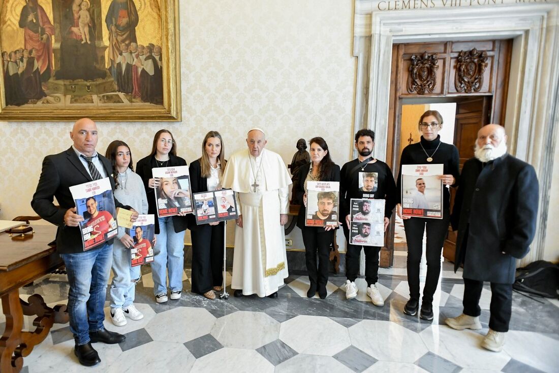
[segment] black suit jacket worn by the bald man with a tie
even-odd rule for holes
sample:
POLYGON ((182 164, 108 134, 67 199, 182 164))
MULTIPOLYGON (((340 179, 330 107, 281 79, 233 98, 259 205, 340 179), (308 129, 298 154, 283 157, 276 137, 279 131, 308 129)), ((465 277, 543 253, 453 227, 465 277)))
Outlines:
MULTIPOLYGON (((98 154, 105 173, 111 180, 112 190, 115 190, 115 180, 111 177, 111 162, 98 154)), ((79 227, 64 225, 64 214, 69 208, 75 207, 75 201, 70 193, 70 186, 92 181, 86 167, 79 160, 72 147, 59 154, 48 155, 42 161, 42 171, 37 184, 37 190, 31 200, 31 207, 46 221, 58 226, 56 231, 56 250, 68 254, 83 252, 82 235, 79 227), (60 207, 56 207, 53 198, 56 197, 60 207)), ((116 207, 130 209, 115 199, 116 207)), ((110 240, 109 242, 112 242, 110 240)), ((94 248, 92 250, 95 250, 94 248)))

